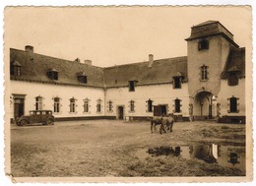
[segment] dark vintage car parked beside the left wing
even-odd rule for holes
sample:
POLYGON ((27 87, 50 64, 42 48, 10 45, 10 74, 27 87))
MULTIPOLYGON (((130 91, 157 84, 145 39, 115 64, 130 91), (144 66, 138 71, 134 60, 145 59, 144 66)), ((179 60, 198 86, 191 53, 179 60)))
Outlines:
POLYGON ((43 125, 54 125, 54 116, 51 110, 31 110, 30 115, 23 115, 16 119, 19 126, 42 123, 43 125))

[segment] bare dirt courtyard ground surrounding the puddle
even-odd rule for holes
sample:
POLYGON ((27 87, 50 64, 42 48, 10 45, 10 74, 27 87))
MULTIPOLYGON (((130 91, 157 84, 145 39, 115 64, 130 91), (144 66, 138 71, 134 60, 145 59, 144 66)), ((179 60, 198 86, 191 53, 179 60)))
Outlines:
POLYGON ((244 171, 175 155, 151 156, 157 147, 186 144, 245 147, 245 125, 176 122, 172 133, 151 133, 146 121, 56 122, 11 127, 11 172, 24 176, 243 176, 244 171), (141 152, 141 153, 140 153, 141 152))

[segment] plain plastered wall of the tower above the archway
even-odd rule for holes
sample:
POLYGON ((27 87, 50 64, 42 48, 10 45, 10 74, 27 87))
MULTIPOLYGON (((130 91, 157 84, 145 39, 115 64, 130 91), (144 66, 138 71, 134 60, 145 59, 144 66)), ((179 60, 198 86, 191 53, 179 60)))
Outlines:
POLYGON ((217 95, 221 91, 221 74, 226 62, 229 43, 223 36, 209 36, 209 49, 198 50, 199 39, 187 42, 188 50, 188 91, 193 95, 204 87, 217 95), (201 81, 201 66, 208 66, 208 81, 201 81))

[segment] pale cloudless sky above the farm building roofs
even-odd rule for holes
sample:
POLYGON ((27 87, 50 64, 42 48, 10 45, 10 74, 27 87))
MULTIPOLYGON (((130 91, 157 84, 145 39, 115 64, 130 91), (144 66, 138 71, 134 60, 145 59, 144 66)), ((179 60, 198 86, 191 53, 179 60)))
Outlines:
POLYGON ((5 10, 5 47, 107 67, 187 55, 191 27, 214 20, 246 46, 248 7, 88 7, 5 10))

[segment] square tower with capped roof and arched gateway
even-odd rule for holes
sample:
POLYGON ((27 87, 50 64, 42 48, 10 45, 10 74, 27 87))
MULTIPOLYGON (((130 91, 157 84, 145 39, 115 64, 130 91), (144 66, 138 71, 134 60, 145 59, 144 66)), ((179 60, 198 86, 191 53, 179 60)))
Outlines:
POLYGON ((221 91, 221 78, 229 51, 239 46, 233 34, 218 21, 208 21, 191 28, 187 41, 188 92, 191 115, 213 117, 213 100, 221 91))

